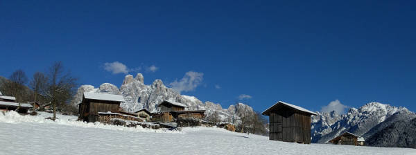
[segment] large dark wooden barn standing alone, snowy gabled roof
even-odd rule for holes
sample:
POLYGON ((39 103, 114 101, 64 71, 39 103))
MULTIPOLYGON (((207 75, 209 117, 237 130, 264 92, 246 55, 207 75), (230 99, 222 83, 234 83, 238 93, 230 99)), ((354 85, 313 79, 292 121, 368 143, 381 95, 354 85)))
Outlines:
POLYGON ((316 113, 279 101, 261 114, 269 116, 270 140, 311 143, 311 115, 316 113))

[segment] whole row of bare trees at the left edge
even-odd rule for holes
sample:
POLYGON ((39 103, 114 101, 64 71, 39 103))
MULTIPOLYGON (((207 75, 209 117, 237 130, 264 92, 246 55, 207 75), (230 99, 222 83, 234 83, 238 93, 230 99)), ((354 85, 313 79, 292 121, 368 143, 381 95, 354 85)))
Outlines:
POLYGON ((56 118, 56 111, 77 112, 69 102, 76 93, 78 78, 71 75, 62 62, 53 63, 45 72, 37 71, 30 80, 23 70, 18 69, 8 80, 2 81, 0 92, 15 96, 17 102, 50 103, 53 107, 53 120, 56 118))

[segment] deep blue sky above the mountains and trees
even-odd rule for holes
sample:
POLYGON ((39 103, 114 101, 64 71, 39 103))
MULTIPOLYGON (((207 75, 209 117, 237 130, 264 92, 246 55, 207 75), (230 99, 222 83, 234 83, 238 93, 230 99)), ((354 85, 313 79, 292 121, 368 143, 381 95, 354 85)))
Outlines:
MULTIPOLYGON (((313 111, 383 102, 416 111, 412 1, 0 1, 0 75, 62 61, 80 84, 186 83, 223 107, 246 97, 313 111), (123 73, 105 70, 119 62, 123 73), (150 69, 150 67, 153 68, 150 69), (193 72, 190 72, 193 71, 193 72), (195 87, 196 86, 196 87, 195 87)), ((120 69, 120 68, 119 68, 120 69)))

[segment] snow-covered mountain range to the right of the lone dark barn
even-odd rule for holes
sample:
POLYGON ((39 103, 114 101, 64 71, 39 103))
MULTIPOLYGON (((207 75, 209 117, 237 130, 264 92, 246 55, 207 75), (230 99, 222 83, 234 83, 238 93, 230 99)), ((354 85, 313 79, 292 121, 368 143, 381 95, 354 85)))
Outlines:
POLYGON ((318 113, 318 116, 313 116, 311 120, 311 141, 327 143, 345 131, 367 138, 397 120, 415 117, 415 113, 405 107, 392 107, 379 102, 370 102, 359 109, 350 108, 345 115, 338 115, 333 111, 318 113))

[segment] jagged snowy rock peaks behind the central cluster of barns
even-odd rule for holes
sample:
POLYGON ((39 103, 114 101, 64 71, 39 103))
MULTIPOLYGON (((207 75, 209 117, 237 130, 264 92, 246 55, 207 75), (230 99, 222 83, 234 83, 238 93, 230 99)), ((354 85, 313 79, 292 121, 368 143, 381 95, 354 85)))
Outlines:
POLYGON ((155 80, 153 84, 144 84, 144 77, 141 73, 137 73, 134 78, 132 75, 125 75, 123 84, 120 89, 114 84, 104 83, 98 88, 92 85, 82 85, 78 88, 78 91, 72 100, 71 104, 76 107, 76 104, 83 99, 84 92, 93 93, 110 93, 123 95, 126 102, 120 105, 125 111, 137 111, 139 109, 148 109, 149 111, 157 111, 157 104, 162 100, 172 100, 175 102, 181 102, 186 104, 189 110, 205 109, 205 114, 211 116, 212 114, 218 114, 221 121, 224 122, 236 122, 237 114, 242 109, 248 109, 253 111, 252 107, 247 104, 238 103, 229 106, 227 109, 223 109, 220 104, 214 102, 202 102, 198 98, 189 95, 181 95, 174 89, 168 88, 162 82, 162 80, 155 80))

